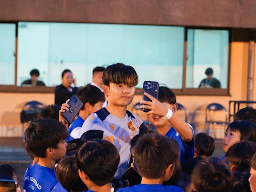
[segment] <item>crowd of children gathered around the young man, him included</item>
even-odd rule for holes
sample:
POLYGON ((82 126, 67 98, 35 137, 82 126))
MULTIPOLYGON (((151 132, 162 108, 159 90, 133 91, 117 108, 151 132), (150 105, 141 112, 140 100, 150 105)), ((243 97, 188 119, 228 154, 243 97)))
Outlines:
MULTIPOLYGON (((145 93, 151 101, 141 101, 152 131, 127 110, 138 83, 134 68, 113 64, 102 78, 106 107, 101 90, 87 85, 77 91, 83 106, 70 125, 61 116, 69 100, 29 122, 25 147, 33 162, 24 173, 25 191, 256 191, 255 109, 236 113, 220 159, 211 157, 214 139, 195 135, 175 114, 176 96, 168 87, 159 87, 158 99, 145 93)), ((0 175, 16 179, 4 164, 0 175)))

